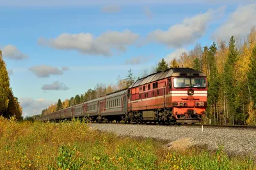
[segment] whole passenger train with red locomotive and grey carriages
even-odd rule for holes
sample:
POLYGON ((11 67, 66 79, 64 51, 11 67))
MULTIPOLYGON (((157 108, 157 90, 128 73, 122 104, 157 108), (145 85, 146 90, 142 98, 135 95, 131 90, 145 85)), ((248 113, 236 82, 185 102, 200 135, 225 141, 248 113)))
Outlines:
POLYGON ((90 122, 195 124, 207 108, 205 73, 171 67, 139 78, 127 89, 54 111, 40 120, 86 117, 90 122))

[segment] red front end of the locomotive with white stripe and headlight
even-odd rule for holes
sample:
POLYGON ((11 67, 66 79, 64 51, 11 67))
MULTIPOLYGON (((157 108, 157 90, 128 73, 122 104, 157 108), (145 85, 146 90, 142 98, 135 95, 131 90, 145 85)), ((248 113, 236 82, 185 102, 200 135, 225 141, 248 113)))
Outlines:
POLYGON ((204 74, 182 73, 173 76, 172 94, 173 117, 176 122, 201 122, 207 106, 207 80, 204 74))

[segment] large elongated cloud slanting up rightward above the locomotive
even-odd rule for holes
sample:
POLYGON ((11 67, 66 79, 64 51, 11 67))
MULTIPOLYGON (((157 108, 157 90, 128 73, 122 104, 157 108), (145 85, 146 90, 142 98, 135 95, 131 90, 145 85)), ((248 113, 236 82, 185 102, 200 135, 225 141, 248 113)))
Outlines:
POLYGON ((210 9, 192 18, 185 18, 182 23, 173 25, 167 31, 157 29, 150 32, 147 39, 149 42, 158 42, 171 48, 190 45, 204 35, 212 18, 216 14, 220 14, 223 9, 223 7, 218 8, 218 10, 210 9))

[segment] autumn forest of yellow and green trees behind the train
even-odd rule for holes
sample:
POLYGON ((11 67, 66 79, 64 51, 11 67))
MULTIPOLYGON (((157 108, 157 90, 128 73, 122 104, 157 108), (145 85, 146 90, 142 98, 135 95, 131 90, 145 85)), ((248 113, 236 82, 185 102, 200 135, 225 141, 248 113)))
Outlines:
MULTIPOLYGON (((252 27, 243 41, 236 41, 231 36, 228 42, 219 39, 218 42, 204 47, 198 43, 192 50, 182 53, 170 63, 162 59, 154 67, 154 71, 164 71, 169 67, 190 67, 207 75, 205 124, 256 125, 255 27, 252 27)), ((42 114, 125 89, 134 80, 130 69, 127 78, 118 79, 118 85, 106 86, 98 83, 94 90, 89 89, 84 94, 77 94, 63 102, 59 99, 57 104, 52 104, 42 114)))

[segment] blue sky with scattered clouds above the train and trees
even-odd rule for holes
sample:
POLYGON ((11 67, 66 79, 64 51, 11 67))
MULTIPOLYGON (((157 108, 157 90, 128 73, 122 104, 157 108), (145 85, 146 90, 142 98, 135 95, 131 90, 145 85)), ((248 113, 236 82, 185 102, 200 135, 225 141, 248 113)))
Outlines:
POLYGON ((255 17, 250 0, 0 0, 0 49, 26 117, 196 43, 246 36, 255 17))

